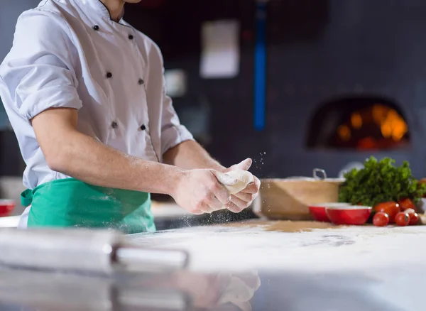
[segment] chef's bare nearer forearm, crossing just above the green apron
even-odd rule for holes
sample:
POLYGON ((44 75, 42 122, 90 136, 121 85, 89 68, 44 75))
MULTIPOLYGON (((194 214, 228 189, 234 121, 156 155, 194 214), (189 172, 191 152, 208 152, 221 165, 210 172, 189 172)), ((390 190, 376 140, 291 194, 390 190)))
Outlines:
POLYGON ((77 131, 63 141, 50 148, 48 165, 91 185, 170 195, 182 173, 171 165, 126 155, 77 131))

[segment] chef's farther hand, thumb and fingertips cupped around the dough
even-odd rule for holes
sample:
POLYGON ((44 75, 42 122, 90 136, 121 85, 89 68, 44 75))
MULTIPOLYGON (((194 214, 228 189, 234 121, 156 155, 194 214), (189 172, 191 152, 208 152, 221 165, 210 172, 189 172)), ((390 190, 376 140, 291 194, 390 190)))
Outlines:
MULTIPOLYGON (((239 164, 232 165, 230 168, 225 170, 225 173, 230 170, 249 170, 251 163, 253 163, 251 159, 246 159, 239 164)), ((231 195, 231 202, 226 204, 226 208, 231 212, 239 213, 243 211, 249 207, 253 200, 255 200, 258 196, 261 181, 256 176, 253 176, 253 178, 253 182, 249 183, 246 189, 241 190, 241 192, 236 193, 235 195, 231 195)))

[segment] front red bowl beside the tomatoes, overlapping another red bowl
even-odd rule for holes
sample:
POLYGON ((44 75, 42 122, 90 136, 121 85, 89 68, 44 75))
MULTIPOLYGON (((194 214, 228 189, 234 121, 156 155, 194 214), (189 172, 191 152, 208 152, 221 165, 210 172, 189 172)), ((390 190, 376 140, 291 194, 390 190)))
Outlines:
POLYGON ((365 224, 371 215, 372 207, 346 205, 342 207, 329 207, 327 215, 333 224, 365 224))

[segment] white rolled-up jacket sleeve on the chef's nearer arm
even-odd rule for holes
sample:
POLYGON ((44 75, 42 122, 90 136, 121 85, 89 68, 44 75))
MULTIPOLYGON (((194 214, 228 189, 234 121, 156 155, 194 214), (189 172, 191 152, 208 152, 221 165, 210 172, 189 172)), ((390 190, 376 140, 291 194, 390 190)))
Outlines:
POLYGON ((50 108, 80 109, 75 46, 55 13, 26 11, 18 18, 13 48, 0 66, 9 103, 26 120, 50 108))

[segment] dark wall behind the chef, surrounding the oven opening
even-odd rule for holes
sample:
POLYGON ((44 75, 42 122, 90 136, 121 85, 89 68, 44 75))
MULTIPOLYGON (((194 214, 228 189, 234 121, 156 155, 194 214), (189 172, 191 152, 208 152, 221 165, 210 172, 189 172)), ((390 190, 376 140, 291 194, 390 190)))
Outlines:
MULTIPOLYGON (((9 50, 18 13, 36 2, 1 1, 0 58, 9 50)), ((260 177, 310 175, 314 167, 337 175, 344 164, 371 152, 308 149, 310 120, 329 100, 373 95, 398 104, 412 139, 410 148, 373 154, 410 160, 415 175, 426 175, 424 1, 271 0, 266 129, 261 132, 253 128, 255 1, 159 2, 158 7, 128 6, 125 18, 160 45, 166 69, 187 71, 189 92, 175 99, 175 108, 183 115, 207 103, 211 140, 206 147, 225 165, 250 156, 260 177), (202 80, 200 25, 222 18, 241 22, 241 72, 230 80, 202 80)))

